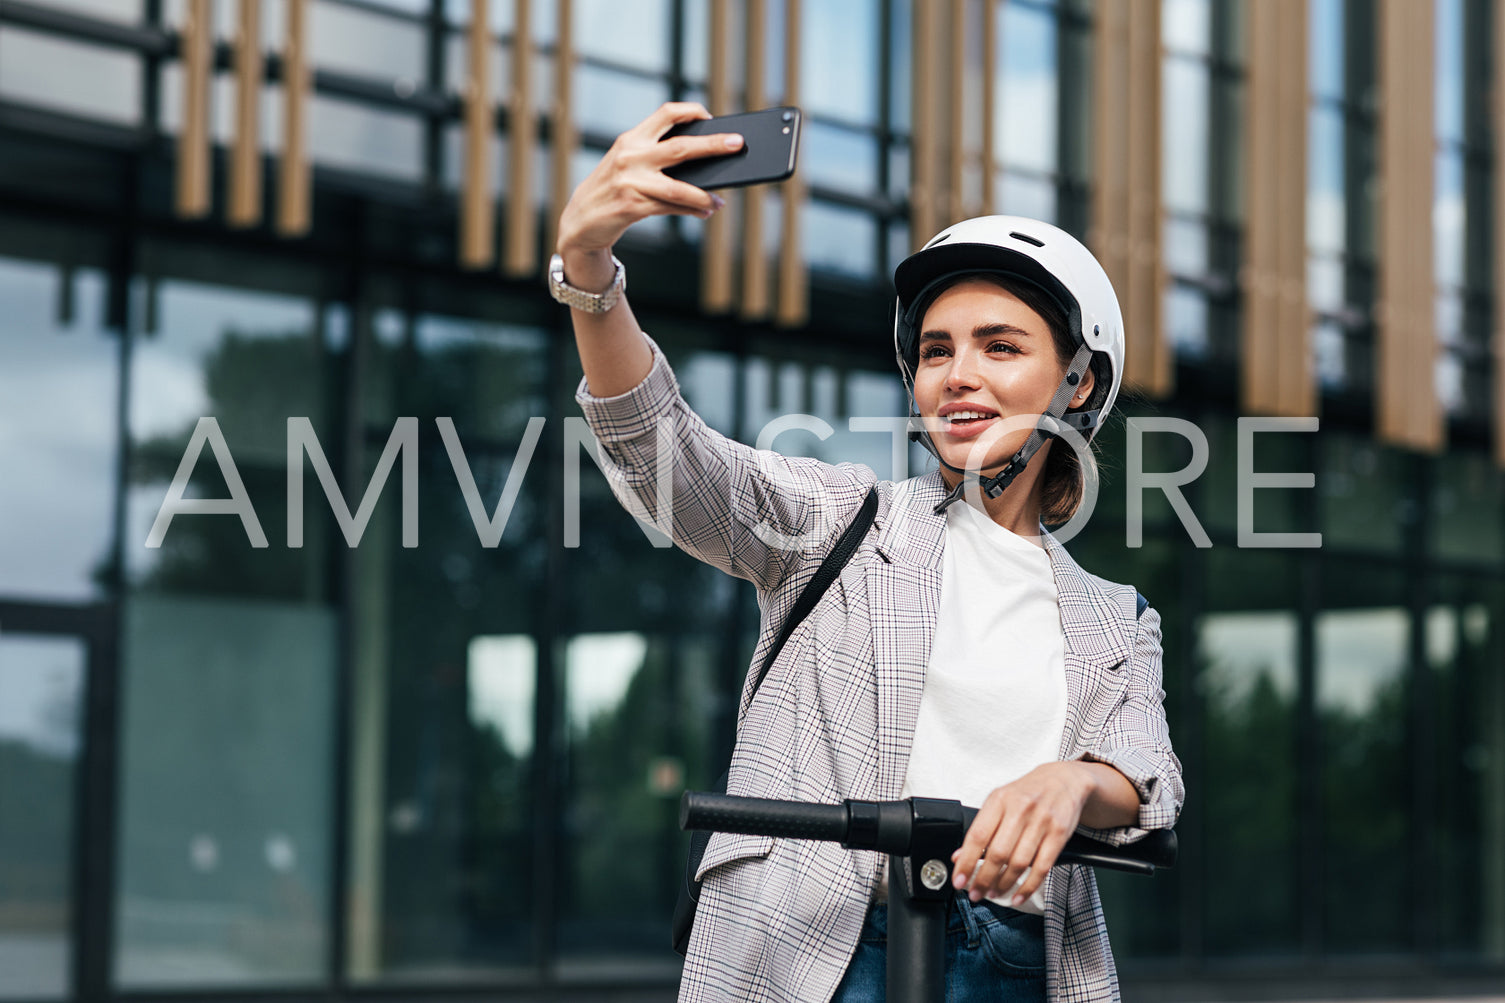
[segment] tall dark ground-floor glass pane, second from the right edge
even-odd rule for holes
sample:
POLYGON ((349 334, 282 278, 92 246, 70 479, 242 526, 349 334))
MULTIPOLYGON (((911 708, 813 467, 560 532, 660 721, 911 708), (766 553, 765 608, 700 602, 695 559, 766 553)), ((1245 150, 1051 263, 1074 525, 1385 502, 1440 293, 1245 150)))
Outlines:
POLYGON ((1335 955, 1401 950, 1430 881, 1409 881, 1397 863, 1413 839, 1409 589, 1389 568, 1327 562, 1321 592, 1323 944, 1335 955))

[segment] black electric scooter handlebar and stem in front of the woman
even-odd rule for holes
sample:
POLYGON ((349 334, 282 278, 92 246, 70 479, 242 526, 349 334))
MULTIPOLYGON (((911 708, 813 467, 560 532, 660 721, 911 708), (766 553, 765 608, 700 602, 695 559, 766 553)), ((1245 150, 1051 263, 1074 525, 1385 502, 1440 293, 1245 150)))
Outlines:
MULTIPOLYGON (((945 925, 954 898, 951 852, 975 816, 974 807, 936 798, 808 804, 686 791, 679 806, 679 827, 685 830, 816 839, 888 854, 889 1003, 945 998, 945 925)), ((1172 830, 1153 830, 1127 846, 1078 833, 1057 863, 1154 873, 1174 866, 1175 852, 1172 830)))

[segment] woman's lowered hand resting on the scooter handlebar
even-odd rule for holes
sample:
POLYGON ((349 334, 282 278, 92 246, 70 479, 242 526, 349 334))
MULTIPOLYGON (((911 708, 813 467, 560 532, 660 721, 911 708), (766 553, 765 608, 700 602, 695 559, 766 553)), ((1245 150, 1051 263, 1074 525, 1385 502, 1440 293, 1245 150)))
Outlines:
POLYGON ((1097 792, 1094 767, 1117 774, 1100 764, 1047 762, 989 794, 951 855, 956 887, 969 889, 974 902, 1011 895, 1019 905, 1034 895, 1097 792))

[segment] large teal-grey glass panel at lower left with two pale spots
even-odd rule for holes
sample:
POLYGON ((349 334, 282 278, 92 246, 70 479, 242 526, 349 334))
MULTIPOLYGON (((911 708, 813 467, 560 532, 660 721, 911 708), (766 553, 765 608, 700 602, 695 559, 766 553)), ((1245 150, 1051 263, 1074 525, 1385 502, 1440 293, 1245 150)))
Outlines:
POLYGON ((313 605, 126 602, 117 988, 321 982, 336 637, 313 605))

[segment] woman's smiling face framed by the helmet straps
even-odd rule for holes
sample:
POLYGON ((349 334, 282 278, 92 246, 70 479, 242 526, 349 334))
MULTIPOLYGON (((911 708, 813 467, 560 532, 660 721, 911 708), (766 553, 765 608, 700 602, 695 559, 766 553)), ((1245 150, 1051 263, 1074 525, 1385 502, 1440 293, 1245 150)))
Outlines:
MULTIPOLYGON (((957 282, 926 310, 915 407, 921 417, 932 419, 930 440, 953 467, 1002 465, 1032 428, 1019 423, 1020 428, 1004 431, 1002 423, 1043 413, 1064 375, 1050 325, 1023 300, 987 279, 957 282)), ((1088 372, 1079 387, 1081 399, 1091 389, 1088 372)), ((1070 404, 1079 402, 1073 396, 1070 404)))

